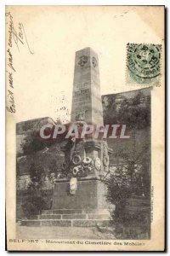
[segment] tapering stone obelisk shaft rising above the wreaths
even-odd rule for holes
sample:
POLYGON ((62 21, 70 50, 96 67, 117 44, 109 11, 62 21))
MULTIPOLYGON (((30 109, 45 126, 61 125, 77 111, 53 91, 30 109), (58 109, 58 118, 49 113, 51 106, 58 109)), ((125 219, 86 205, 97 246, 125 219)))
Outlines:
POLYGON ((76 52, 71 122, 84 119, 88 124, 103 125, 99 84, 99 59, 91 48, 76 52))

